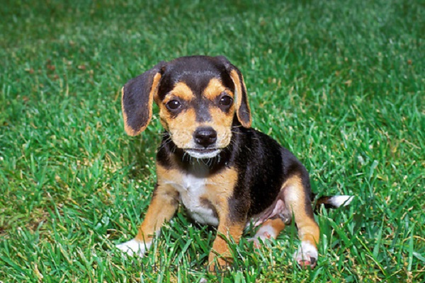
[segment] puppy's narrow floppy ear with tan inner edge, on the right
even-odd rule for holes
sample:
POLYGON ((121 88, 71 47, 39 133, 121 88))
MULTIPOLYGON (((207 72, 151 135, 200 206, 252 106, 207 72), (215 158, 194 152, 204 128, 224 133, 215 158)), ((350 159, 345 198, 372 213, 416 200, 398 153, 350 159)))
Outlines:
POLYGON ((216 57, 220 62, 225 64, 227 72, 234 83, 234 105, 236 108, 237 120, 241 122, 243 127, 251 127, 251 110, 249 109, 248 96, 246 94, 246 86, 241 71, 234 67, 226 57, 216 57))

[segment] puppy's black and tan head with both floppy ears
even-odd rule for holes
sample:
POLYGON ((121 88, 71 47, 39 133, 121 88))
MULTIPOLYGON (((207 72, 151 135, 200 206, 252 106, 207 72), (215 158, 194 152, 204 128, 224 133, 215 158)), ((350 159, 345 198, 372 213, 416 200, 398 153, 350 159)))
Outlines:
POLYGON ((153 101, 174 144, 195 158, 212 158, 229 144, 235 116, 243 127, 251 127, 244 79, 225 57, 160 62, 128 81, 122 98, 128 134, 147 127, 153 101))

